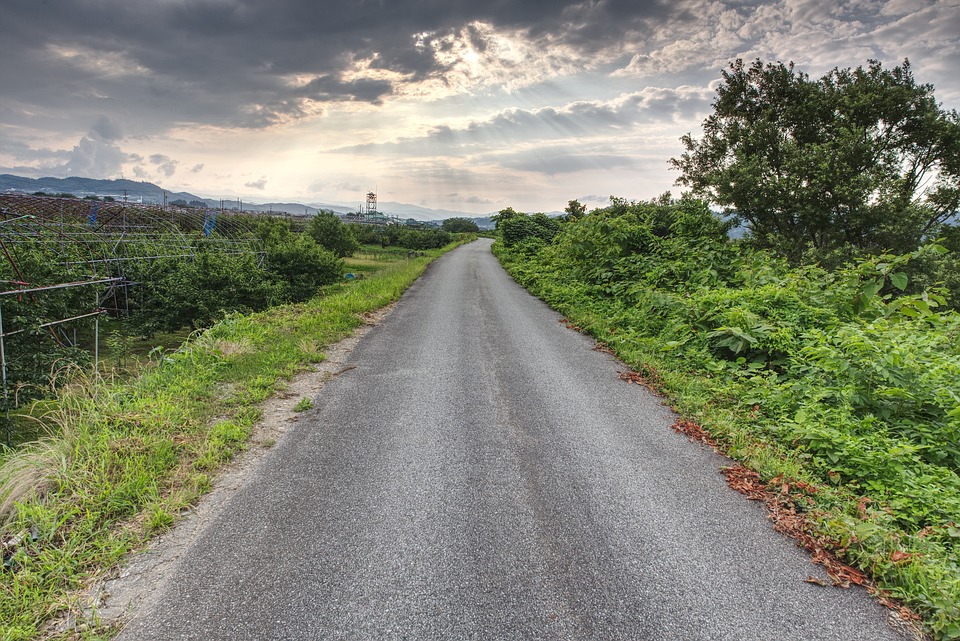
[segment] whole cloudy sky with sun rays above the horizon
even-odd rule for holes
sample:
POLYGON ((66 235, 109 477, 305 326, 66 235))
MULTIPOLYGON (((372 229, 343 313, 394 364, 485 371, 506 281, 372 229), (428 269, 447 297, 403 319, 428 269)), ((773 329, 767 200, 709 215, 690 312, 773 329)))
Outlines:
POLYGON ((0 173, 258 202, 677 194, 737 57, 909 58, 960 108, 960 0, 0 0, 0 43, 0 173))

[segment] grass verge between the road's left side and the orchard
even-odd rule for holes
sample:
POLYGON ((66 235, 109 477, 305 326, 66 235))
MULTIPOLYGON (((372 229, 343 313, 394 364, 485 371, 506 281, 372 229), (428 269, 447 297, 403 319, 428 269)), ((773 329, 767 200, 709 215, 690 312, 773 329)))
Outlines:
POLYGON ((77 375, 63 386, 43 417, 50 435, 0 460, 0 639, 106 638, 89 621, 46 626, 68 612, 83 620, 84 588, 210 489, 258 404, 455 246, 305 304, 231 315, 134 380, 77 375))

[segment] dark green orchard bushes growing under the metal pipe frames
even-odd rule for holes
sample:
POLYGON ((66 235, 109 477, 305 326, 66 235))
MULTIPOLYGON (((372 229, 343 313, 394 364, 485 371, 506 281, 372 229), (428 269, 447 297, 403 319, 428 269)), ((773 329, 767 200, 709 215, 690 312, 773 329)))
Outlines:
MULTIPOLYGON (((116 239, 81 229, 75 242, 40 235, 21 236, 15 247, 19 272, 4 262, 0 274, 18 281, 29 274, 31 287, 85 282, 100 268, 101 276, 121 277, 130 286, 114 289, 116 298, 105 299, 103 289, 71 287, 36 295, 6 296, 2 305, 4 330, 17 332, 5 341, 8 394, 13 407, 49 392, 58 369, 92 361, 92 320, 42 327, 57 319, 89 314, 97 305, 122 316, 144 335, 208 327, 231 312, 259 311, 273 305, 306 301, 322 287, 343 278, 343 261, 314 239, 292 230, 289 221, 251 217, 251 238, 259 243, 234 245, 223 239, 199 237, 182 254, 171 255, 163 239, 149 235, 127 239, 118 247, 121 260, 100 258, 96 252, 116 239), (261 251, 250 251, 259 246, 261 251), (126 256, 126 258, 124 258, 126 256), (161 256, 161 258, 136 258, 161 256), (101 291, 99 298, 97 291, 101 291), (79 346, 71 346, 75 337, 79 346)), ((0 401, 2 402, 2 401, 0 401)))

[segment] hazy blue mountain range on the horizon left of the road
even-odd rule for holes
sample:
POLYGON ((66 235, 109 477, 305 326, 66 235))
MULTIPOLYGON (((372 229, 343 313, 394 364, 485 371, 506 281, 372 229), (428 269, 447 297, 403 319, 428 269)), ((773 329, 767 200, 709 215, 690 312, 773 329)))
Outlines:
MULTIPOLYGON (((99 180, 96 178, 25 178, 11 174, 0 174, 0 191, 19 191, 32 194, 42 191, 48 194, 68 193, 83 198, 84 196, 112 196, 117 200, 129 200, 150 205, 162 205, 183 201, 190 205, 204 207, 236 208, 242 203, 244 211, 274 211, 289 214, 314 215, 320 210, 333 211, 338 214, 347 214, 357 211, 356 207, 343 204, 329 203, 252 203, 237 200, 214 200, 203 198, 185 191, 168 191, 158 185, 136 180, 99 180)), ((462 211, 447 209, 429 209, 417 205, 404 203, 381 202, 379 209, 388 216, 399 218, 413 218, 415 220, 446 220, 447 218, 469 218, 475 221, 481 229, 492 229, 493 221, 489 216, 475 217, 462 211)))

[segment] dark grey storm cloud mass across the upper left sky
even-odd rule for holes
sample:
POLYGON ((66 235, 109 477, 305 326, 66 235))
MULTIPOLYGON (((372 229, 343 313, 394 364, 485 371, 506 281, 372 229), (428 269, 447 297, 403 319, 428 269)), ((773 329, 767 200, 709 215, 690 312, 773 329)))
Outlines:
POLYGON ((173 123, 266 127, 302 117, 314 103, 378 103, 397 82, 442 77, 451 34, 483 51, 474 21, 569 42, 588 60, 631 25, 664 12, 658 2, 612 0, 4 4, 6 99, 87 118, 106 102, 123 114, 122 124, 136 123, 124 127, 132 135, 173 123), (401 79, 345 79, 358 60, 401 79), (298 85, 292 76, 306 80, 298 85))

